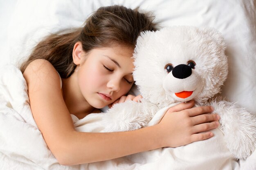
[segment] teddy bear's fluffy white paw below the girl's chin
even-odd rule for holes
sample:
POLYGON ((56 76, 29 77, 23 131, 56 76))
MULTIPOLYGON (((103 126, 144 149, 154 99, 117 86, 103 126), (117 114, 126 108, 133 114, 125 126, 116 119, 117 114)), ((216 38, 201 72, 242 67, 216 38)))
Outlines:
POLYGON ((149 119, 142 111, 141 103, 127 101, 115 104, 103 118, 104 132, 136 130, 146 126, 149 119))

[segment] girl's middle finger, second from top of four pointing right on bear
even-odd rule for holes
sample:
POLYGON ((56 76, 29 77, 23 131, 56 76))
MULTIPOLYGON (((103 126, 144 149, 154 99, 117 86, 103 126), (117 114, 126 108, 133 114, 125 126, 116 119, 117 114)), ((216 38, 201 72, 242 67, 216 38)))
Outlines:
POLYGON ((202 114, 198 116, 191 117, 193 125, 203 124, 206 122, 217 121, 220 119, 218 114, 202 114))

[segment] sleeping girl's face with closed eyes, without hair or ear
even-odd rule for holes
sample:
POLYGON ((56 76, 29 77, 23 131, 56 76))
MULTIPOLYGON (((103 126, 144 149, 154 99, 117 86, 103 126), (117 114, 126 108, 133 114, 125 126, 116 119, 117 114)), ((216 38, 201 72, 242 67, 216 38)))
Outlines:
POLYGON ((128 93, 134 83, 132 53, 132 48, 115 46, 86 54, 76 71, 81 94, 91 106, 103 108, 128 93))

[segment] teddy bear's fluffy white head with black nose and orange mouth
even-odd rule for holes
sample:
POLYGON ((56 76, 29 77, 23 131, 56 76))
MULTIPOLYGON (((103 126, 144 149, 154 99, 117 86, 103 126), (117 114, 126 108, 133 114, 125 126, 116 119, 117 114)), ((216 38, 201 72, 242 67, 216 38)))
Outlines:
POLYGON ((191 99, 203 103, 220 92, 228 73, 224 40, 211 28, 172 26, 141 33, 134 59, 141 95, 162 106, 191 99))

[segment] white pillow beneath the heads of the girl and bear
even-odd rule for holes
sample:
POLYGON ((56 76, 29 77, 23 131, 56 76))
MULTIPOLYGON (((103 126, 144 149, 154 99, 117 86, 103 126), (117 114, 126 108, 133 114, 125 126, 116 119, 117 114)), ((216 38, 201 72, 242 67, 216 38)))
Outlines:
MULTIPOLYGON (((222 96, 256 115, 254 0, 18 0, 7 33, 8 62, 25 60, 43 36, 81 26, 100 6, 112 4, 153 11, 161 26, 212 26, 222 32, 229 57, 229 75, 222 96)), ((136 88, 133 91, 138 94, 136 88)))

